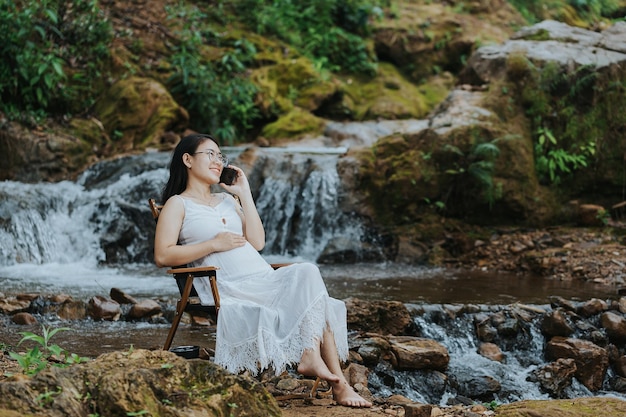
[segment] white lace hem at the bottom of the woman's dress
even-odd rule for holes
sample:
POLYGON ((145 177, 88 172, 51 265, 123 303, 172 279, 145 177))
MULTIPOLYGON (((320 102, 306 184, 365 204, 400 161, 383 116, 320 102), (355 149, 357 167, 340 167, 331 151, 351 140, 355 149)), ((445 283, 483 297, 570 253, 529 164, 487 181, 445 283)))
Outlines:
MULTIPOLYGON (((328 327, 334 335, 337 353, 341 361, 348 359, 348 334, 345 323, 332 323, 328 295, 320 297, 302 316, 298 330, 285 340, 277 341, 270 331, 259 329, 257 338, 248 339, 237 345, 221 345, 215 352, 215 363, 234 374, 249 371, 257 375, 271 368, 276 375, 287 366, 300 362, 305 349, 311 349, 322 339, 328 327)), ((219 343, 219 341, 218 341, 219 343)))

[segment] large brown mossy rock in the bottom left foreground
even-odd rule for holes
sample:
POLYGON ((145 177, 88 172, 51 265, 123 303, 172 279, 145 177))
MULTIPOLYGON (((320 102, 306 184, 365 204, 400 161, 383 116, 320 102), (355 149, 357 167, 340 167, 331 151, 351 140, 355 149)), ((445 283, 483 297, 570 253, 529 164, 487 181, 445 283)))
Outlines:
POLYGON ((108 353, 0 384, 2 416, 228 416, 233 406, 242 410, 237 415, 281 415, 274 398, 254 379, 163 350, 108 353))

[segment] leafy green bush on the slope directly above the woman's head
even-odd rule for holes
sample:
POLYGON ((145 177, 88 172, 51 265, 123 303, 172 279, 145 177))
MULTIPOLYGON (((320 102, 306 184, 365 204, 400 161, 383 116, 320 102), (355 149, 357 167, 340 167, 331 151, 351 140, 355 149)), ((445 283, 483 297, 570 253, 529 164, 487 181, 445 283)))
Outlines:
POLYGON ((168 85, 190 113, 194 128, 212 132, 233 144, 260 117, 255 104, 257 87, 246 77, 255 46, 246 39, 220 40, 206 26, 206 15, 195 7, 168 7, 169 18, 181 18, 179 42, 171 56, 173 74, 168 85), (215 61, 203 58, 205 44, 227 50, 215 61))

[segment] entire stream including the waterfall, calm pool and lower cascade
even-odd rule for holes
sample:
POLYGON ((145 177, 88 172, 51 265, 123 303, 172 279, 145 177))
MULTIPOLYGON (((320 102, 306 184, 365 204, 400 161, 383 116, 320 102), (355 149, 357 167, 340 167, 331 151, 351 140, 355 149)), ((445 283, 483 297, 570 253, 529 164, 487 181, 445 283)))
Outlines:
MULTIPOLYGON (((229 150, 236 160, 240 150, 229 150)), ((363 242, 370 231, 353 213, 341 210, 341 182, 336 169, 345 150, 258 151, 253 188, 268 231, 262 255, 268 262, 316 262, 337 242, 363 242), (295 221, 294 219, 297 219, 295 221)), ((25 184, 0 183, 0 285, 5 297, 20 293, 68 294, 85 300, 108 297, 119 288, 136 299, 151 298, 173 305, 177 287, 164 269, 152 262, 154 221, 147 200, 158 198, 167 176, 169 155, 146 153, 94 165, 77 181, 25 184)), ((376 239, 367 242, 368 250, 376 239)), ((428 312, 447 306, 475 305, 497 311, 522 303, 549 306, 549 297, 568 300, 616 298, 616 289, 590 282, 558 281, 533 276, 425 268, 393 262, 320 264, 331 296, 365 300, 395 300, 411 306, 424 337, 443 344, 450 353, 451 373, 489 372, 501 381, 501 401, 546 398, 525 380, 543 363, 542 346, 511 350, 504 363, 489 363, 476 353, 473 323, 468 317, 433 322, 428 312)), ((382 248, 379 248, 382 253, 382 248)), ((41 325, 64 327, 53 343, 81 356, 134 348, 159 348, 169 330, 166 320, 155 322, 60 321, 38 317, 40 324, 18 326, 0 315, 0 343, 17 347, 23 332, 40 333, 41 325)), ((533 332, 539 335, 538 324, 533 332)), ((214 346, 211 327, 181 324, 174 345, 214 346)), ((538 339, 539 340, 539 339, 538 339)), ((493 361, 490 361, 493 362, 493 361)), ((427 377, 393 371, 395 384, 386 383, 392 371, 371 376, 375 395, 405 395, 415 401, 444 402, 449 392, 429 390, 427 377), (387 375, 382 378, 380 375, 387 375), (382 378, 382 379, 381 379, 382 378)), ((572 397, 590 395, 571 388, 572 397)), ((600 394, 603 393, 594 393, 600 394)), ((606 395, 621 395, 607 392, 606 395)))

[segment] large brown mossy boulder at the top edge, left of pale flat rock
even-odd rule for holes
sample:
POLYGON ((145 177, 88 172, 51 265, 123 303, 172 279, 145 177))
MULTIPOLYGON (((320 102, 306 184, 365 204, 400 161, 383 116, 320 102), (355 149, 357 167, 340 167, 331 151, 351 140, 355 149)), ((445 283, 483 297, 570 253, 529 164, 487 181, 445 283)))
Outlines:
POLYGON ((459 71, 478 45, 503 42, 525 24, 508 2, 480 3, 464 9, 467 2, 454 8, 396 2, 393 12, 373 23, 377 55, 416 83, 442 71, 459 71))

